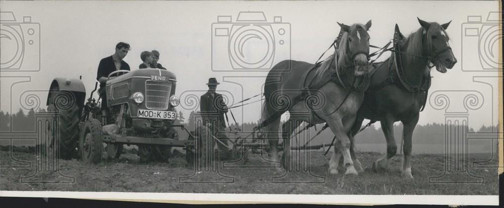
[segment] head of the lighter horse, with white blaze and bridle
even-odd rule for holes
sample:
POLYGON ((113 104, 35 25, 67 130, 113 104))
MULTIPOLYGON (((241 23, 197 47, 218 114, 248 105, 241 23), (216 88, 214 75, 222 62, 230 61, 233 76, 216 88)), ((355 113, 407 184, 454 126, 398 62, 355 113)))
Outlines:
POLYGON ((345 61, 351 61, 349 65, 355 66, 355 76, 362 76, 369 73, 371 67, 368 67, 369 34, 367 31, 371 27, 371 20, 365 25, 353 24, 352 26, 348 26, 340 23, 338 23, 338 25, 346 32, 342 36, 339 46, 339 54, 346 54, 346 57, 340 59, 339 62, 344 63, 345 61))

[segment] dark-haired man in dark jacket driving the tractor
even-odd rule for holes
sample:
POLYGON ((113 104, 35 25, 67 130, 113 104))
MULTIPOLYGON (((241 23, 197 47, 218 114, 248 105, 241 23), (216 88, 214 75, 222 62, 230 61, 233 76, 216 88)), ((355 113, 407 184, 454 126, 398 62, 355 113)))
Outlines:
POLYGON ((101 97, 101 112, 106 115, 107 99, 105 98, 105 83, 109 80, 108 75, 117 70, 130 71, 130 65, 122 60, 130 51, 130 44, 119 42, 115 45, 115 52, 111 56, 102 58, 98 65, 98 72, 96 73, 96 80, 100 82, 100 89, 98 93, 101 97))

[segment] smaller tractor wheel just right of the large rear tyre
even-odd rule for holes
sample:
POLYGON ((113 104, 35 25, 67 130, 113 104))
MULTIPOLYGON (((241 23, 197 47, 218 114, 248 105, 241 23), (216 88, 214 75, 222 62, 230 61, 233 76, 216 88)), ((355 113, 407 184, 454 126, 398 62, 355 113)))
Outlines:
POLYGON ((86 163, 99 163, 101 161, 102 150, 101 124, 97 119, 90 118, 84 123, 79 140, 79 151, 82 161, 86 163))

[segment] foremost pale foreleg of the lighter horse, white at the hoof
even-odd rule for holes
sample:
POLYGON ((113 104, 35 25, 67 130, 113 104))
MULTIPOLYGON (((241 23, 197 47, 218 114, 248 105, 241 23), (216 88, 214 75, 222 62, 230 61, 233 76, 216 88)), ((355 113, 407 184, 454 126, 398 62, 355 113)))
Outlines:
POLYGON ((338 141, 341 143, 340 150, 343 154, 343 165, 346 167, 345 174, 357 175, 358 173, 355 170, 352 157, 350 156, 350 138, 348 138, 348 132, 345 131, 341 118, 336 117, 334 119, 328 119, 327 123, 329 124, 329 127, 333 131, 334 135, 336 135, 338 141))

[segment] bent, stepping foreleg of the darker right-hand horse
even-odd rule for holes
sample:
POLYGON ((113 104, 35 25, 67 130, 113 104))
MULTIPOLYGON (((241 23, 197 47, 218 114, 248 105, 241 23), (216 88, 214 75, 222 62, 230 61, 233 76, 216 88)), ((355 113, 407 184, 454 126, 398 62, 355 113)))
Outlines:
POLYGON ((372 168, 375 171, 385 170, 389 167, 389 159, 397 153, 396 139, 394 138, 394 120, 388 116, 380 122, 387 141, 387 154, 374 161, 372 168))

